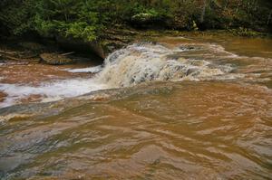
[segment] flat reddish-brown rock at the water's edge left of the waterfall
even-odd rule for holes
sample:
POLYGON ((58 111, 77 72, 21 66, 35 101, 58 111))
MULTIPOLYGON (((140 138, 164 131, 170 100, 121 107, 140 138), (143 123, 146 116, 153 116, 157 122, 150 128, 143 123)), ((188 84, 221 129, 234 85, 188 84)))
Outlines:
POLYGON ((43 62, 50 65, 63 65, 63 64, 70 64, 74 62, 72 59, 57 53, 41 53, 40 58, 43 62))

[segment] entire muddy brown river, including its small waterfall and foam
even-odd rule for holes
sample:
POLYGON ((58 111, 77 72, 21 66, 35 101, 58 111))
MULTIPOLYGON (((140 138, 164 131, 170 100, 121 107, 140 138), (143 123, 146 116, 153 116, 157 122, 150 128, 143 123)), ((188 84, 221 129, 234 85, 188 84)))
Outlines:
POLYGON ((2 64, 0 179, 271 179, 272 40, 157 41, 2 64))

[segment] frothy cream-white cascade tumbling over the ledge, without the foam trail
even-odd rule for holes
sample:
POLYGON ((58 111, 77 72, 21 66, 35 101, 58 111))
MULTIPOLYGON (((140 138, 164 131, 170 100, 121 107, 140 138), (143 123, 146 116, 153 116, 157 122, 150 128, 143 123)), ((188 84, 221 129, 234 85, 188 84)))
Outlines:
POLYGON ((95 78, 112 87, 128 87, 145 81, 200 81, 223 75, 229 65, 216 65, 199 59, 177 57, 188 49, 171 50, 162 45, 133 44, 113 52, 95 78))

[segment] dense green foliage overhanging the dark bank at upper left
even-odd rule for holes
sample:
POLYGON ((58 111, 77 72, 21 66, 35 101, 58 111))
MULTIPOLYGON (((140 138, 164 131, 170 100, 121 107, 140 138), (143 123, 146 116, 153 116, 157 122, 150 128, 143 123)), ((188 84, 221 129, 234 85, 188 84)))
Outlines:
POLYGON ((25 0, 6 5, 0 21, 15 35, 35 31, 43 36, 63 35, 93 41, 105 21, 95 4, 88 0, 25 0))

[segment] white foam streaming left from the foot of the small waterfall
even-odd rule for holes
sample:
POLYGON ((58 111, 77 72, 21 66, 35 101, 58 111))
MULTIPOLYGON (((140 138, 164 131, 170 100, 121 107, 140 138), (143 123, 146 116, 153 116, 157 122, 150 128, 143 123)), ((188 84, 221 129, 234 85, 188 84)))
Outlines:
POLYGON ((0 84, 0 90, 8 96, 0 103, 0 108, 16 104, 20 99, 26 99, 31 95, 40 95, 43 102, 54 101, 63 98, 80 96, 93 90, 108 88, 106 85, 96 83, 92 79, 73 79, 44 83, 38 87, 16 84, 0 84))

